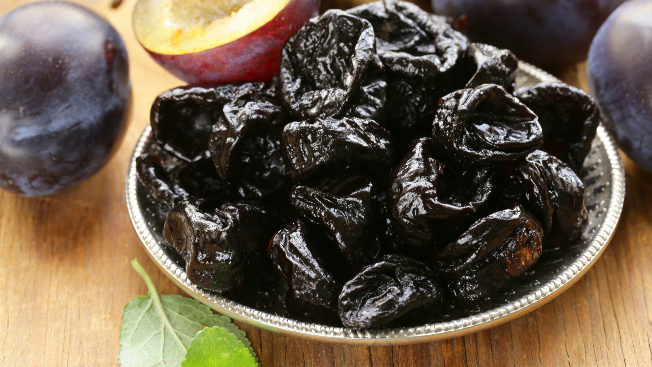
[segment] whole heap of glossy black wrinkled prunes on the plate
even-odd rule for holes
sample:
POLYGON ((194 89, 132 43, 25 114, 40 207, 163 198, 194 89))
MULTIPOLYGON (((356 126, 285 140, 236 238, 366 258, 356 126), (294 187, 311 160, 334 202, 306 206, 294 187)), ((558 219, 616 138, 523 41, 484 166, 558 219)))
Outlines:
POLYGON ((329 10, 288 40, 278 78, 160 95, 153 138, 177 163, 143 155, 138 174, 192 283, 283 282, 291 317, 422 325, 584 232, 593 101, 514 91, 515 72, 409 3, 329 10))

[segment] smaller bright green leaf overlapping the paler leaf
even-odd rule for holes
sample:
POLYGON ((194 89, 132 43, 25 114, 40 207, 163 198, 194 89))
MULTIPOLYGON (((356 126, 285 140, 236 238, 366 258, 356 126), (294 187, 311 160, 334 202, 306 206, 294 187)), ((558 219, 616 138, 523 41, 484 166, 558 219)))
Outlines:
POLYGON ((181 367, 254 367, 256 360, 235 335, 224 328, 201 330, 192 340, 181 367))

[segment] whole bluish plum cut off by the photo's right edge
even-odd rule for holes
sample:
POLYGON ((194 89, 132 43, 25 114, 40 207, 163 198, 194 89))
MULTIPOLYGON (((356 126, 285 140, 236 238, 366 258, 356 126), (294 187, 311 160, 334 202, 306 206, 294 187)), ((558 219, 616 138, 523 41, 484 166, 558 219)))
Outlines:
POLYGON ((620 148, 652 172, 652 1, 626 1, 602 24, 589 88, 620 148))

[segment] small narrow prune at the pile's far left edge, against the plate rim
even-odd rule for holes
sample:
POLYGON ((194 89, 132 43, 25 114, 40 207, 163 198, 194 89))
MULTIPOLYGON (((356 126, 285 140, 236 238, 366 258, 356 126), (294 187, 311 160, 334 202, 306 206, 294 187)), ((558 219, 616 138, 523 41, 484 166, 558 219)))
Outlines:
POLYGON ((180 199, 188 196, 188 193, 173 182, 168 171, 163 168, 163 161, 156 155, 143 154, 136 158, 136 172, 150 195, 166 207, 165 212, 180 199))

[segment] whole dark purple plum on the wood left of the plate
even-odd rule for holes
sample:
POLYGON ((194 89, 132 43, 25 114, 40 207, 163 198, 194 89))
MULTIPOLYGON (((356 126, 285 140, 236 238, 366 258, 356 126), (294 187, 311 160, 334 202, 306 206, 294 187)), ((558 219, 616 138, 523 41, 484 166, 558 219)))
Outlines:
POLYGON ((125 44, 106 21, 65 2, 0 19, 0 187, 57 193, 97 172, 125 135, 125 44))

